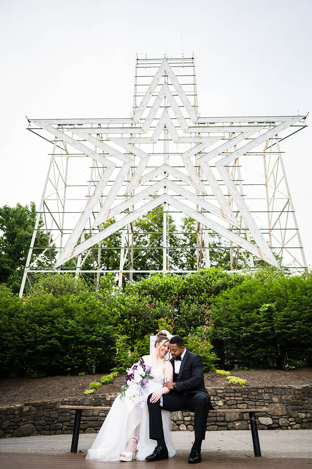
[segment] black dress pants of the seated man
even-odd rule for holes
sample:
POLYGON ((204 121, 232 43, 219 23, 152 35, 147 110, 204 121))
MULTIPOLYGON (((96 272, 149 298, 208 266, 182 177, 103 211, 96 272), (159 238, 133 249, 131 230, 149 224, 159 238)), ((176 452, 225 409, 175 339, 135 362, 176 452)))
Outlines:
POLYGON ((209 394, 196 393, 185 396, 182 393, 171 392, 164 394, 163 404, 160 407, 160 400, 150 402, 151 395, 147 398, 148 410, 150 413, 150 439, 164 438, 162 428, 161 409, 176 412, 177 410, 188 409, 195 413, 194 430, 195 438, 205 439, 207 417, 211 408, 209 394))

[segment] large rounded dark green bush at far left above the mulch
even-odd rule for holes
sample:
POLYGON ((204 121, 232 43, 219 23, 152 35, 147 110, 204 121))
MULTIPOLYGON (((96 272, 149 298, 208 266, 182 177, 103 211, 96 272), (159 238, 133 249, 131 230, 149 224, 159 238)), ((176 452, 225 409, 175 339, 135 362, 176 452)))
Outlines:
POLYGON ((114 330, 95 294, 28 295, 0 290, 0 362, 16 375, 78 374, 113 366, 114 330))

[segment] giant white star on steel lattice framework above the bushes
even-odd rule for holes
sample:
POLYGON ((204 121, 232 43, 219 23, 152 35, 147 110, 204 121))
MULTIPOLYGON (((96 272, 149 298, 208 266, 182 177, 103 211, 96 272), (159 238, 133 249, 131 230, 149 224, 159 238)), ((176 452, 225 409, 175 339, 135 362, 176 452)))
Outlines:
POLYGON ((109 249, 119 252, 119 285, 135 272, 191 272, 170 256, 188 249, 170 245, 170 223, 183 215, 195 220, 197 269, 210 266, 212 234, 227 240, 231 271, 239 256, 247 269, 259 259, 306 267, 280 149, 306 116, 200 117, 194 58, 166 56, 137 58, 131 116, 29 120, 53 151, 21 295, 35 272, 93 272, 99 282, 109 249), (160 206, 159 242, 144 248, 161 249, 162 266, 136 269, 136 222, 160 206))

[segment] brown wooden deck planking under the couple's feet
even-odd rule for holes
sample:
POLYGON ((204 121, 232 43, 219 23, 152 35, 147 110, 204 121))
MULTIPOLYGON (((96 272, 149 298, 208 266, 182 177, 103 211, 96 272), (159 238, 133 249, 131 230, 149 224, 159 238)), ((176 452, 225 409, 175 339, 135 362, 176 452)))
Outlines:
MULTIPOLYGON (((166 461, 90 461, 86 454, 0 453, 0 469, 189 469, 188 458, 166 461)), ((204 456, 197 469, 312 469, 312 459, 204 456)))

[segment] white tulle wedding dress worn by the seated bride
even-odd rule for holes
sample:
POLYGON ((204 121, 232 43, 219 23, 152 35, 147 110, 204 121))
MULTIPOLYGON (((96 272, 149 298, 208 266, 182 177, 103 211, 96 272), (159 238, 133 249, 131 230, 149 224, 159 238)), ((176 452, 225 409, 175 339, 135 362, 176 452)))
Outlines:
MULTIPOLYGON (((157 442, 149 438, 149 413, 146 401, 149 394, 162 388, 165 378, 162 366, 152 368, 150 374, 153 379, 150 379, 144 391, 144 408, 140 408, 141 403, 138 396, 133 401, 129 397, 120 399, 120 394, 116 396, 93 445, 88 450, 86 459, 118 461, 119 455, 123 453, 136 427, 138 427, 136 459, 144 461, 146 456, 154 451, 157 442)), ((171 415, 167 410, 161 410, 161 416, 169 458, 172 458, 176 449, 171 436, 171 415)))

